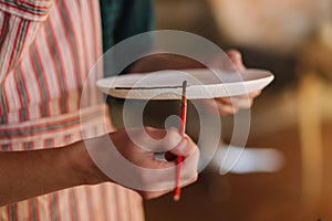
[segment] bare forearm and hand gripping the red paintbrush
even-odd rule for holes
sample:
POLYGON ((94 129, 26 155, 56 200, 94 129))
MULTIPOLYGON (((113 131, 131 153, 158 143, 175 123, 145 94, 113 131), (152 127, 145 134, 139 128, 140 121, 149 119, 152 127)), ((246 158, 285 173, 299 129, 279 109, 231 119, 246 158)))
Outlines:
MULTIPOLYGON (((147 134, 155 138, 162 138, 166 135, 165 130, 145 128, 147 134)), ((137 136, 144 137, 144 129, 136 129, 137 136)), ((118 130, 90 139, 90 144, 97 148, 103 148, 103 140, 110 138, 114 141, 117 150, 133 164, 151 169, 163 169, 175 165, 174 161, 160 161, 154 157, 153 151, 142 151, 127 137, 125 130, 118 130)), ((160 149, 167 149, 176 145, 170 152, 181 155, 185 158, 195 156, 194 161, 184 165, 183 175, 186 180, 194 182, 197 179, 196 166, 198 161, 198 149, 193 140, 185 136, 184 138, 173 129, 170 136, 164 140, 160 149), (193 169, 195 168, 195 169, 193 169)), ((156 149, 148 146, 147 149, 156 149)), ((138 171, 139 172, 139 171, 138 171)), ((164 181, 173 181, 169 176, 164 181)), ((9 204, 20 200, 53 192, 56 190, 80 186, 96 185, 101 182, 114 182, 105 176, 90 158, 83 141, 74 143, 66 147, 29 150, 29 151, 0 151, 0 206, 9 204), (56 159, 56 160, 54 160, 56 159)), ((153 177, 146 177, 142 180, 143 185, 152 185, 156 181, 153 177)), ((120 183, 121 185, 121 183, 120 183)), ((185 183, 184 183, 185 185, 185 183)), ((186 183, 188 185, 188 183, 186 183)), ((169 190, 163 191, 138 191, 145 199, 159 197, 169 190)))

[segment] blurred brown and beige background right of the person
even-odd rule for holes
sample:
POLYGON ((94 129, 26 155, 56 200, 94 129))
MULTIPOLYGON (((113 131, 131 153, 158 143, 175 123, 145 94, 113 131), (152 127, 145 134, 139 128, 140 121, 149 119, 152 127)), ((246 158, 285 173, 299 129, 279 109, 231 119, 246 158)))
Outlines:
POLYGON ((145 201, 147 221, 332 220, 332 1, 154 0, 154 8, 156 29, 238 49, 248 67, 276 80, 251 109, 238 170, 221 176, 212 161, 179 202, 145 201))

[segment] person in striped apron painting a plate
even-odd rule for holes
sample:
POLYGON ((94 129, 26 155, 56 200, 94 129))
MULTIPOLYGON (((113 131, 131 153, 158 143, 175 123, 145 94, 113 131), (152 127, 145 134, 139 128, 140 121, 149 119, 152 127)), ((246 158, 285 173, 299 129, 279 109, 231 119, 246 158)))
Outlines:
MULTIPOLYGON (((156 160, 154 152, 139 151, 126 130, 102 134, 105 104, 96 88, 80 106, 84 81, 103 50, 149 27, 149 18, 139 17, 143 6, 151 10, 146 0, 0 1, 0 220, 144 220, 142 197, 169 191, 132 190, 105 176, 89 156, 80 127, 86 126, 84 134, 95 147, 111 137, 137 166, 174 166, 156 160), (137 18, 144 25, 135 23, 137 18)), ((230 56, 241 65, 237 52, 230 56)), ((135 69, 144 69, 144 63, 148 61, 135 69)), ((237 110, 226 98, 217 101, 221 114, 237 110)), ((144 131, 156 138, 166 133, 154 128, 134 133, 144 138, 144 131)), ((196 145, 170 130, 163 148, 169 146, 175 155, 196 156, 183 168, 194 182, 196 145)), ((169 179, 145 178, 143 183, 169 179)))

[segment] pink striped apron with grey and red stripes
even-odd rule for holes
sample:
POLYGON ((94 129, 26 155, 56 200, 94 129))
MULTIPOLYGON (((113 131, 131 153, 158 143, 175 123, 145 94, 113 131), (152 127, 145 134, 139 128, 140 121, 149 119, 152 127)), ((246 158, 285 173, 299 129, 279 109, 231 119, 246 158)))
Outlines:
MULTIPOLYGON (((95 87, 80 109, 84 81, 102 55, 101 39, 97 0, 0 0, 0 150, 80 140, 80 114, 85 135, 103 133, 105 109, 95 87)), ((1 221, 143 219, 141 197, 112 183, 0 208, 1 221)))

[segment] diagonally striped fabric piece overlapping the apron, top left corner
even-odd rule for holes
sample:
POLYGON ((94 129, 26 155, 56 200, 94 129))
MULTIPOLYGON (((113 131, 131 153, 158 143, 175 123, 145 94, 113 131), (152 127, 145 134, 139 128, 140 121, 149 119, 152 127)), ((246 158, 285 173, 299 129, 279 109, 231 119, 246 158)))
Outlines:
POLYGON ((0 0, 0 83, 48 18, 53 0, 0 0))

